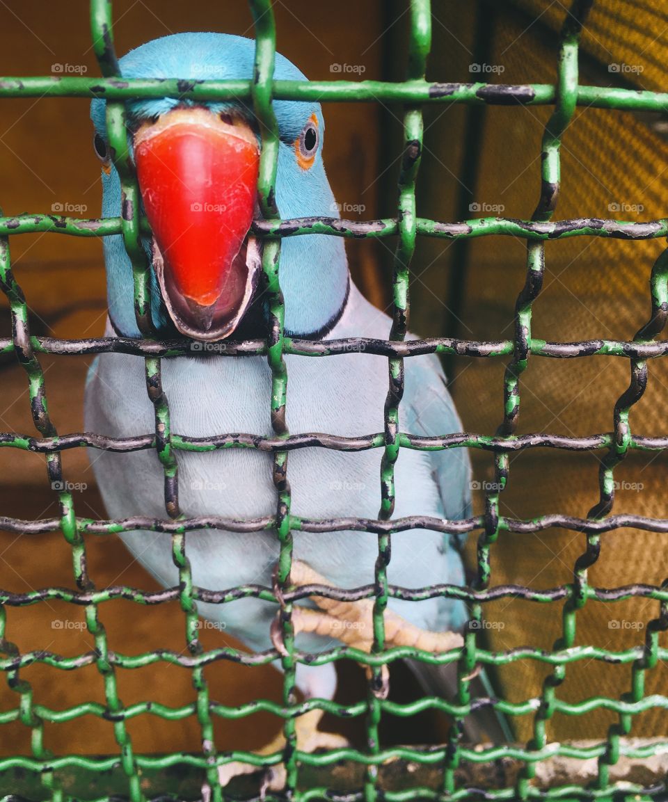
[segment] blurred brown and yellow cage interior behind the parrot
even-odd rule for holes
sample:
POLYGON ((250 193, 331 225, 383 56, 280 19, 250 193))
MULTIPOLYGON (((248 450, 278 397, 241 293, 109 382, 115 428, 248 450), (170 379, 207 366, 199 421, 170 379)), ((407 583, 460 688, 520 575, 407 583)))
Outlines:
MULTIPOLYGON (((434 47, 428 77, 443 82, 478 79, 473 64, 488 65, 489 80, 501 83, 552 83, 556 77, 557 30, 565 9, 533 0, 516 2, 435 3, 434 47)), ((362 65, 365 79, 400 79, 407 40, 407 3, 339 0, 336 14, 302 0, 274 5, 277 47, 313 79, 332 77, 332 63, 362 65)), ((221 30, 252 35, 244 2, 188 4, 164 0, 117 0, 115 42, 119 54, 160 35, 179 30, 221 30)), ((601 2, 594 6, 582 40, 581 81, 601 86, 628 85, 662 90, 662 59, 668 35, 666 2, 631 6, 601 2), (609 65, 640 66, 642 71, 611 73, 609 65)), ((87 3, 68 4, 59 14, 45 13, 41 2, 0 3, 0 74, 43 75, 55 63, 80 64, 88 75, 98 70, 90 47, 87 3)), ((487 67, 482 67, 482 70, 487 67)), ((91 147, 88 104, 82 99, 17 99, 0 103, 0 204, 6 214, 50 212, 57 205, 79 207, 72 214, 99 214, 99 163, 91 147), (56 205, 56 206, 55 206, 56 205)), ((391 215, 399 171, 400 107, 330 103, 325 108, 325 158, 340 203, 362 205, 363 219, 391 215)), ((425 148, 419 176, 419 214, 453 221, 466 217, 530 217, 540 192, 540 137, 549 116, 545 107, 461 107, 433 105, 425 111, 425 148), (471 205, 476 205, 473 210, 471 205), (499 207, 490 209, 490 207, 499 207), (476 209, 481 209, 476 211, 476 209)), ((652 115, 579 108, 562 150, 562 189, 556 219, 617 217, 649 220, 666 209, 666 124, 652 115), (642 208, 641 208, 642 207, 642 208), (623 209, 623 211, 621 210, 623 209), (619 210, 619 211, 618 211, 619 210)), ((355 217, 354 213, 348 215, 355 217)), ((10 241, 14 272, 30 306, 34 334, 76 338, 99 336, 105 318, 104 273, 99 241, 30 235, 10 241)), ((355 280, 385 308, 392 241, 350 242, 355 280)), ((534 304, 533 334, 549 340, 594 337, 632 338, 650 313, 648 279, 659 241, 573 238, 546 247, 545 286, 534 304)), ((512 336, 513 306, 524 283, 525 245, 511 237, 480 238, 456 244, 419 240, 411 267, 411 328, 419 334, 456 334, 471 339, 512 336)), ((6 302, 2 299, 2 309, 6 302)), ((9 333, 2 314, 0 332, 9 333)), ((83 382, 87 358, 45 356, 47 395, 60 433, 83 428, 83 382)), ((455 401, 468 431, 492 434, 502 419, 504 359, 447 363, 455 401)), ((612 428, 613 404, 628 383, 629 366, 618 358, 530 360, 521 386, 518 433, 549 431, 587 435, 612 428)), ((26 377, 13 358, 2 358, 2 431, 32 433, 26 377)), ((643 435, 666 435, 668 373, 661 361, 650 363, 646 395, 631 413, 631 427, 643 435)), ((598 456, 601 456, 599 454, 598 456)), ((476 478, 492 480, 492 459, 473 455, 476 478)), ((63 453, 65 476, 87 489, 75 494, 80 516, 106 517, 94 477, 82 450, 63 453)), ((530 518, 549 512, 585 516, 597 500, 597 456, 532 450, 512 457, 502 500, 510 516, 530 518)), ((0 449, 0 514, 34 519, 57 514, 42 456, 0 449)), ((615 512, 665 516, 666 460, 631 455, 617 469, 620 481, 642 484, 640 492, 617 493, 615 512)), ((480 498, 476 499, 480 509, 480 498)), ((662 536, 625 529, 602 537, 601 557, 590 571, 598 586, 634 581, 659 584, 668 575, 662 536)), ((471 544, 472 547, 475 545, 471 544)), ((536 589, 569 581, 585 538, 558 530, 536 536, 501 536, 492 548, 492 585, 512 582, 536 589)), ((115 537, 88 537, 89 572, 98 588, 156 585, 131 561, 115 537)), ((47 585, 72 586, 71 551, 60 535, 0 535, 0 585, 26 592, 47 585)), ((487 606, 496 621, 492 646, 509 649, 532 644, 549 648, 561 634, 561 603, 497 602, 487 606)), ((647 622, 658 615, 655 602, 588 602, 578 614, 578 643, 621 650, 643 641, 647 622), (635 622, 631 629, 614 621, 635 622), (642 626, 641 626, 642 625, 642 626)), ((156 648, 184 649, 178 606, 138 609, 132 602, 106 602, 100 618, 111 648, 137 654, 156 648), (175 626, 176 622, 176 626, 175 626)), ((92 648, 86 630, 57 630, 55 620, 83 621, 83 611, 65 603, 41 602, 7 609, 7 638, 22 651, 47 649, 80 654, 92 648)), ((201 630, 206 647, 229 639, 201 630)), ((662 645, 666 639, 662 636, 662 645)), ((236 645, 236 644, 233 644, 236 645)), ((364 680, 355 666, 343 666, 338 699, 363 697, 364 680)), ((398 669, 397 672, 400 670, 398 669)), ((407 674, 395 672, 393 698, 419 691, 407 674)), ((34 687, 34 702, 62 710, 84 700, 103 701, 95 666, 67 674, 46 666, 22 670, 34 687)), ((500 689, 519 701, 540 693, 545 666, 520 661, 500 670, 500 689)), ((280 677, 272 669, 247 669, 229 663, 206 672, 212 699, 236 704, 257 697, 280 699, 280 677)), ((192 702, 187 670, 156 665, 118 671, 119 696, 126 705, 145 699, 178 706, 192 702)), ((596 695, 617 698, 630 688, 630 666, 581 662, 569 666, 560 699, 571 702, 596 695)), ((666 691, 666 667, 647 676, 647 693, 666 691)), ((18 695, 0 685, 0 711, 14 710, 18 695)), ((556 715, 549 737, 600 737, 612 714, 593 711, 577 719, 556 715)), ((330 727, 341 723, 330 720, 330 727)), ((518 737, 531 734, 529 717, 516 722, 518 737)), ((344 728, 354 736, 350 723, 344 728)), ((417 743, 443 733, 443 722, 423 716, 387 723, 387 739, 417 743)), ((258 747, 277 729, 269 716, 253 715, 233 723, 217 722, 217 747, 258 747)), ((136 751, 197 750, 195 719, 166 723, 150 715, 128 722, 136 751)), ((634 735, 666 732, 656 711, 638 716, 634 735)), ((47 746, 56 752, 114 752, 111 724, 94 716, 70 723, 47 723, 47 746)), ((4 727, 2 753, 30 753, 30 731, 20 723, 4 727)))

